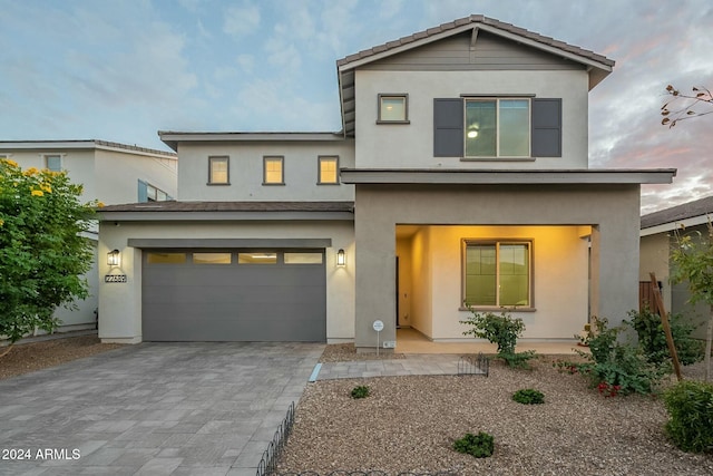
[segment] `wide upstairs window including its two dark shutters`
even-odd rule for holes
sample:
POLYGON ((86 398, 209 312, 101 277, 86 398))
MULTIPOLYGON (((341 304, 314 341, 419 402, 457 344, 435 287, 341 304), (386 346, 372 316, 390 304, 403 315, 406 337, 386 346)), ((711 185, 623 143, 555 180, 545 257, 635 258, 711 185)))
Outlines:
POLYGON ((433 156, 463 161, 561 157, 561 99, 433 100, 433 156))

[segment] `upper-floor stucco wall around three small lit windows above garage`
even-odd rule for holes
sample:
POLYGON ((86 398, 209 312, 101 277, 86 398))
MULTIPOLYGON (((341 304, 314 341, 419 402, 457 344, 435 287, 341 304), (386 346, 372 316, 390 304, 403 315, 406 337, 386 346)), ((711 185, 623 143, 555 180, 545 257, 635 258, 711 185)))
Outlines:
POLYGON ((260 142, 180 144, 178 198, 182 201, 352 201, 354 186, 318 185, 318 157, 339 156, 354 166, 354 142, 260 142), (207 185, 208 157, 229 157, 231 185, 207 185), (284 185, 263 185, 263 157, 284 157, 284 185))

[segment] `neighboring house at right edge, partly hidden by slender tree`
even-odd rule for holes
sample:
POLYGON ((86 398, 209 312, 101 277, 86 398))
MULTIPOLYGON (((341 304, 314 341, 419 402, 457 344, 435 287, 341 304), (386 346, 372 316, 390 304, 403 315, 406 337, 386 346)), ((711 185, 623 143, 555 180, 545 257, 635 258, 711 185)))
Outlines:
POLYGON ((705 323, 711 315, 711 308, 704 302, 691 304, 685 282, 671 283, 671 250, 675 246, 674 231, 691 235, 694 241, 701 235, 707 237, 707 223, 711 220, 713 196, 642 216, 639 280, 649 281, 649 273, 656 274, 666 311, 691 319, 696 326, 693 336, 697 339, 705 339, 705 323))

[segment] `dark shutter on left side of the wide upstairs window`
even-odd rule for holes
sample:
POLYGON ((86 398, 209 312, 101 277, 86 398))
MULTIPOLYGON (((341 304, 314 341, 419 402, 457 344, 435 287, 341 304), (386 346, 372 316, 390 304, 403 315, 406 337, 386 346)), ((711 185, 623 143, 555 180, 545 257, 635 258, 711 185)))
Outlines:
POLYGON ((433 157, 463 156, 463 100, 433 99, 433 157))

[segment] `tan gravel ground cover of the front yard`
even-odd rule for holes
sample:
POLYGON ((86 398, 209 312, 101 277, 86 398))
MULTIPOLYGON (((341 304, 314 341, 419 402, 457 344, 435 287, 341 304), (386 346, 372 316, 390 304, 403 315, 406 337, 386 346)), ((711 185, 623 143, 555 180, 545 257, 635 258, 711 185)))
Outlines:
MULTIPOLYGON (((361 359, 328 346, 323 361, 361 359)), ((403 356, 401 356, 402 358, 403 356)), ((373 359, 374 356, 363 357, 373 359)), ((399 356, 381 356, 399 358, 399 356)), ((418 376, 311 383, 296 408, 281 457, 282 473, 382 470, 459 475, 711 475, 713 457, 676 449, 655 397, 605 398, 584 378, 560 373, 539 356, 534 370, 492 361, 490 376, 418 376), (367 385, 371 395, 352 399, 367 385), (535 388, 544 405, 521 405, 512 394, 535 388), (489 433, 495 454, 476 459, 452 450, 466 433, 489 433)), ((572 357, 566 357, 572 360, 572 357)), ((701 378, 703 367, 685 369, 701 378)))

